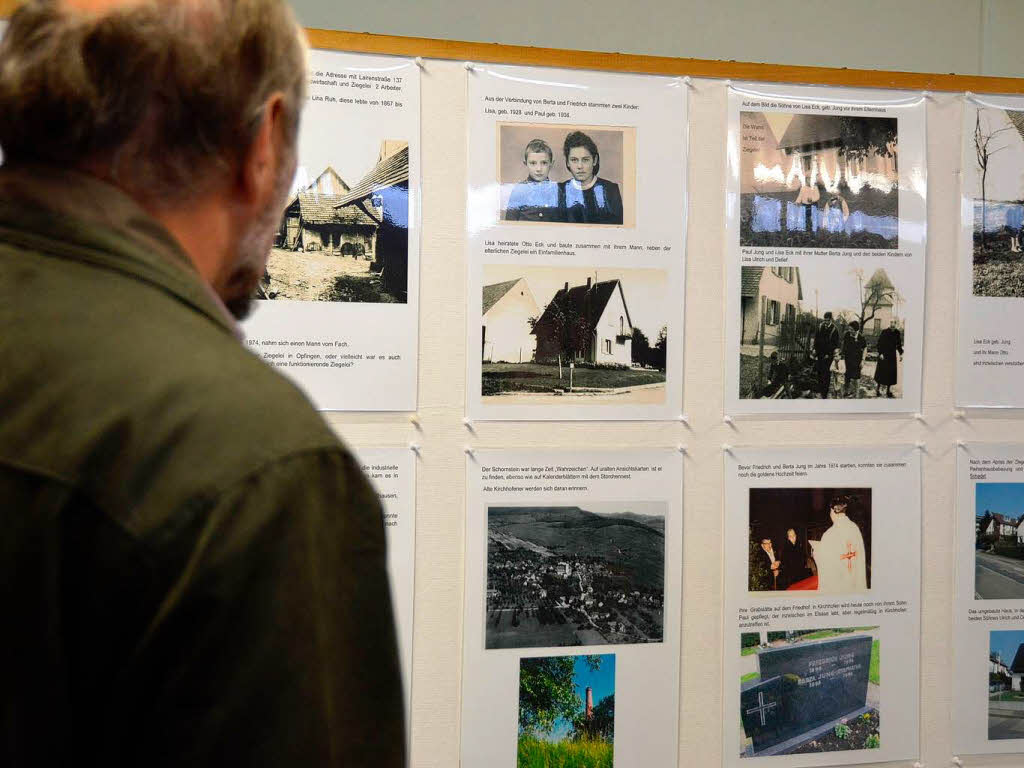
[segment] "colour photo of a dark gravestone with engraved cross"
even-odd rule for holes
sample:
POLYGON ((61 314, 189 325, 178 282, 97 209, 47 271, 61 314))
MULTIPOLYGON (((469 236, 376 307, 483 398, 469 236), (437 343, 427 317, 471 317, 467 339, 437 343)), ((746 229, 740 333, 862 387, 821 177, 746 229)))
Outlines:
POLYGON ((739 636, 740 757, 881 746, 879 627, 739 636))

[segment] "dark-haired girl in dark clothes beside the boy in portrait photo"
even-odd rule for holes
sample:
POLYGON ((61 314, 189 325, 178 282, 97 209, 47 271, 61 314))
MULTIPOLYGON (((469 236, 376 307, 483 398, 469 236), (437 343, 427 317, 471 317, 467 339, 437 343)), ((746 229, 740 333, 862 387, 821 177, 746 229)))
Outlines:
POLYGON ((622 224, 623 196, 618 184, 598 177, 601 156, 594 139, 572 131, 563 146, 565 167, 572 177, 558 185, 558 206, 575 224, 622 224))

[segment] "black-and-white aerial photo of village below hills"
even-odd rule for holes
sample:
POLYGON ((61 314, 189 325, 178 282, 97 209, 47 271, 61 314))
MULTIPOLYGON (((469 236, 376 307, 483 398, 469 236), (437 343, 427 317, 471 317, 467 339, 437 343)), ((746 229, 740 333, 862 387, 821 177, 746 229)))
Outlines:
POLYGON ((664 603, 664 503, 487 510, 487 648, 660 642, 664 603))

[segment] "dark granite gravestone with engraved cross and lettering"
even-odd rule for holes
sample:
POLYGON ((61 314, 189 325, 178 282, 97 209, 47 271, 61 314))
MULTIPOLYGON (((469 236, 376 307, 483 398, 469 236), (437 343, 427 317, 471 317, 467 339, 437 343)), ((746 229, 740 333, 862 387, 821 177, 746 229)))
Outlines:
POLYGON ((863 712, 871 642, 854 635, 759 651, 761 679, 739 693, 743 731, 755 753, 799 742, 802 734, 863 712))

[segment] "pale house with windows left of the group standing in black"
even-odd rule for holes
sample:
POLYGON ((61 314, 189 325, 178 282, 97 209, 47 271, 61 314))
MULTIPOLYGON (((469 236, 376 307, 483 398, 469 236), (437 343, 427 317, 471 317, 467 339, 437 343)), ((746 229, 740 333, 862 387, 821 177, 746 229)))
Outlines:
POLYGON ((740 267, 740 344, 761 341, 764 315, 764 343, 775 345, 783 321, 795 321, 804 299, 797 266, 740 267))

